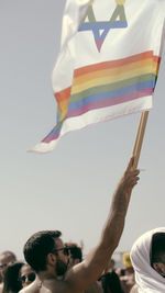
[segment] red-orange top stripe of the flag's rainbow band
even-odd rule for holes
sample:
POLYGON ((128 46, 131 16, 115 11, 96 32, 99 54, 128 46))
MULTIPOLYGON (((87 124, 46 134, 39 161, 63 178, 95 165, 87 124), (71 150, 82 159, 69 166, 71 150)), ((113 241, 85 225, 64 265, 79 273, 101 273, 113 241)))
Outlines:
POLYGON ((144 53, 133 55, 131 57, 127 57, 127 58, 123 58, 120 60, 105 61, 105 63, 88 65, 88 66, 85 66, 82 68, 78 68, 75 70, 75 77, 86 75, 86 74, 92 72, 95 70, 101 70, 101 69, 108 69, 108 68, 123 66, 128 63, 135 63, 135 61, 146 59, 146 58, 153 58, 153 50, 144 52, 144 53))

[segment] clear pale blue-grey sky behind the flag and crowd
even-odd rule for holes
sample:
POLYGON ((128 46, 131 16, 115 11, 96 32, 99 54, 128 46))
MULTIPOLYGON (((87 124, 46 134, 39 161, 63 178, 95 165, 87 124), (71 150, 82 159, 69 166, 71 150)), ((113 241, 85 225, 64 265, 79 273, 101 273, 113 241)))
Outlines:
MULTIPOLYGON (((73 132, 47 155, 26 153, 56 122, 51 86, 64 0, 0 0, 0 251, 22 258, 26 239, 59 229, 64 240, 97 243, 131 156, 140 114, 73 132)), ((165 54, 164 54, 165 55, 165 54)), ((119 250, 165 225, 165 56, 119 250)))

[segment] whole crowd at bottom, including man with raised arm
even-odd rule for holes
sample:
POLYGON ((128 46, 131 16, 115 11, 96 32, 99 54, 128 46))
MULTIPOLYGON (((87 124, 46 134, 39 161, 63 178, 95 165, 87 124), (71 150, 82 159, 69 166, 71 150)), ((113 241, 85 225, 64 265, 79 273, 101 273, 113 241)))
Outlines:
POLYGON ((0 253, 0 293, 163 293, 165 292, 165 228, 142 235, 116 268, 132 189, 140 170, 130 159, 119 181, 107 222, 96 247, 84 258, 81 248, 64 243, 59 230, 42 230, 24 245, 25 261, 11 251, 0 253))

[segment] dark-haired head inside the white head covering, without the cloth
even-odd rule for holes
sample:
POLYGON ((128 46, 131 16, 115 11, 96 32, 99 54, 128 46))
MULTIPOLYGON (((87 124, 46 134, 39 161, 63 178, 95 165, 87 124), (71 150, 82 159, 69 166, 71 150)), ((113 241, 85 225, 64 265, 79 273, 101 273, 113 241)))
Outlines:
POLYGON ((165 278, 165 233, 155 233, 150 251, 151 266, 165 278))

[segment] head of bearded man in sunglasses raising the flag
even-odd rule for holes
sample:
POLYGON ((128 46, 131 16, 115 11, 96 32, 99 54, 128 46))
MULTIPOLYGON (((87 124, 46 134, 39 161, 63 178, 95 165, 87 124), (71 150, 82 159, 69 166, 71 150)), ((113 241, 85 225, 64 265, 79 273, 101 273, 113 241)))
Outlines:
POLYGON ((68 259, 61 235, 58 230, 42 230, 24 245, 24 258, 36 273, 65 274, 68 259))

